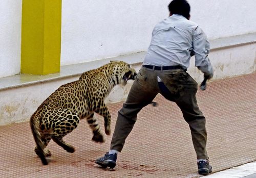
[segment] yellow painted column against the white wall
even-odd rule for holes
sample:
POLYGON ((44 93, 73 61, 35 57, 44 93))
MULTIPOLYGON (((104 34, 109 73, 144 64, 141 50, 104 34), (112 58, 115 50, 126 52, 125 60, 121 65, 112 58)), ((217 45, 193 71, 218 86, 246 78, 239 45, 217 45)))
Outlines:
POLYGON ((23 0, 21 72, 60 71, 61 0, 23 0))

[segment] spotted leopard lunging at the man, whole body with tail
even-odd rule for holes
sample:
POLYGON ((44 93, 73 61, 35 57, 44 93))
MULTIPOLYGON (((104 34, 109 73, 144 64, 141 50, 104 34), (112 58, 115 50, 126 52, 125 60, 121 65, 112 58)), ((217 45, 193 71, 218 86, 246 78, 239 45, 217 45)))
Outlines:
POLYGON ((76 81, 61 85, 46 98, 30 118, 30 128, 36 143, 34 149, 43 165, 50 162, 47 149, 53 140, 68 152, 75 148, 63 141, 63 137, 77 128, 80 119, 86 119, 93 133, 92 140, 104 142, 95 113, 104 118, 104 131, 111 134, 111 115, 105 98, 116 85, 125 86, 135 80, 137 72, 123 61, 109 63, 83 72, 76 81))

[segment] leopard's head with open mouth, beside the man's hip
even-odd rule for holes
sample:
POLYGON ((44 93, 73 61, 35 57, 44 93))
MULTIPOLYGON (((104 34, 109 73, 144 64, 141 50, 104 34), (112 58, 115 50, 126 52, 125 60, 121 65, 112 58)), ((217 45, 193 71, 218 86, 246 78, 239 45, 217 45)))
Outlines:
POLYGON ((128 80, 135 80, 137 72, 134 68, 131 68, 129 64, 123 61, 111 61, 111 64, 114 66, 114 80, 117 84, 121 84, 122 86, 124 86, 126 85, 128 80))

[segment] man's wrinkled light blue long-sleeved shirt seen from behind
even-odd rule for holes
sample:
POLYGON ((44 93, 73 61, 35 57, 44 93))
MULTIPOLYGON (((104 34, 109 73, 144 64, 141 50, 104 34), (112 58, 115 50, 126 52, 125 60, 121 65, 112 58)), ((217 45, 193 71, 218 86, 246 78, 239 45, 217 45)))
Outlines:
POLYGON ((209 51, 209 41, 198 24, 174 14, 155 26, 143 65, 180 65, 187 69, 190 54, 194 52, 195 65, 202 72, 212 74, 209 51))

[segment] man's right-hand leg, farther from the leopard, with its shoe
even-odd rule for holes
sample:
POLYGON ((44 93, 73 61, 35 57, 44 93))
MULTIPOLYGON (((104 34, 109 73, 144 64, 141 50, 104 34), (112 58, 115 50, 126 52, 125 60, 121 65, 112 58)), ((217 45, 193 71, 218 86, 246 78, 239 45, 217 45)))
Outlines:
POLYGON ((166 77, 163 77, 163 83, 165 85, 163 87, 166 87, 169 93, 160 88, 161 93, 165 98, 174 101, 179 106, 189 125, 197 154, 199 173, 211 172, 211 166, 207 161, 205 117, 200 111, 196 99, 197 82, 187 72, 182 71, 180 73, 168 73, 166 77))

